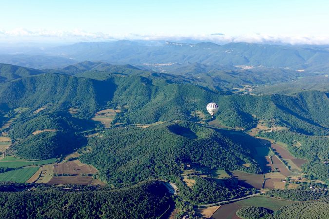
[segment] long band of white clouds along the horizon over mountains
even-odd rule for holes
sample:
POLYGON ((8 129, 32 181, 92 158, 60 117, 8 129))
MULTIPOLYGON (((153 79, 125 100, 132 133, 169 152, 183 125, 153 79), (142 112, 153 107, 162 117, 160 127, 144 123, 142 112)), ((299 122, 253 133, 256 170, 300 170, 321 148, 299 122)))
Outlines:
POLYGON ((329 45, 329 36, 312 35, 268 35, 246 34, 230 36, 225 34, 199 34, 199 35, 170 35, 166 33, 156 34, 109 34, 101 32, 87 32, 83 30, 73 31, 50 31, 50 30, 0 30, 0 42, 99 42, 111 40, 169 40, 169 41, 207 41, 218 44, 230 42, 247 43, 272 43, 291 45, 329 45))

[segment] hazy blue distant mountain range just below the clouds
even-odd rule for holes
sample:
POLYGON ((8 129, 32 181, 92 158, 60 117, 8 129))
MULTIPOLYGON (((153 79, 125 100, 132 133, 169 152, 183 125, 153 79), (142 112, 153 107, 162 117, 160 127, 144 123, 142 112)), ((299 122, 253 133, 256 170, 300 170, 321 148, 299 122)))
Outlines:
POLYGON ((111 63, 186 63, 221 65, 253 65, 263 67, 309 68, 329 62, 329 50, 324 47, 281 46, 252 43, 218 45, 165 42, 160 45, 120 40, 116 42, 76 43, 49 48, 52 55, 65 54, 75 60, 107 61, 111 63))

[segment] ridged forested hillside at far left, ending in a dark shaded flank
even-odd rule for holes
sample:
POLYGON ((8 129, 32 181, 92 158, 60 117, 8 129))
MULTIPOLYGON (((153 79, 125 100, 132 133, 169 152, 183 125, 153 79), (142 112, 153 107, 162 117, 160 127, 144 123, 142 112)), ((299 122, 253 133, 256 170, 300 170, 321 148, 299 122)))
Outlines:
POLYGON ((111 100, 116 85, 61 74, 41 74, 0 85, 0 101, 10 109, 28 107, 37 110, 46 104, 49 109, 65 110, 79 106, 81 118, 91 115, 111 100))

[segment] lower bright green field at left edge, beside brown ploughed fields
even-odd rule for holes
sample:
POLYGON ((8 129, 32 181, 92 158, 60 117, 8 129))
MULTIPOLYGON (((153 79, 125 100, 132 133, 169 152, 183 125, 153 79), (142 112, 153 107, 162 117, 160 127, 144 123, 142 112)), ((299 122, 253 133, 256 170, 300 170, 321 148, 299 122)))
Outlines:
POLYGON ((0 174, 0 182, 12 181, 17 183, 25 183, 35 174, 40 167, 27 167, 17 170, 11 170, 0 174))

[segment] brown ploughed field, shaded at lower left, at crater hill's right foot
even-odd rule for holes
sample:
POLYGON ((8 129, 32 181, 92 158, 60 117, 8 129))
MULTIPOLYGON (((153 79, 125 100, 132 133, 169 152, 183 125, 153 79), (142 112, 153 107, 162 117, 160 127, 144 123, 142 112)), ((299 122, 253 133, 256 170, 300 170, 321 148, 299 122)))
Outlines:
POLYGON ((230 171, 232 178, 238 180, 239 184, 247 188, 254 187, 257 189, 263 188, 264 175, 263 174, 251 174, 241 171, 230 171))

